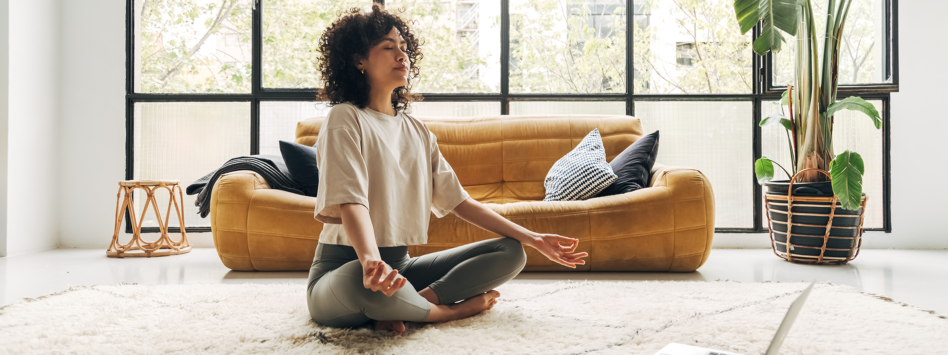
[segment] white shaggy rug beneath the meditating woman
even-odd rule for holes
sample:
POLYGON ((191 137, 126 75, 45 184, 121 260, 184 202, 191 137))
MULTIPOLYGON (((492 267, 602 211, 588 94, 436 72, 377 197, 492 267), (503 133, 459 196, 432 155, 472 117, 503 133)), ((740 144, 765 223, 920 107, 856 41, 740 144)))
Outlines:
MULTIPOLYGON (((0 354, 653 354, 766 350, 808 283, 508 283, 490 311, 404 336, 319 327, 301 284, 71 287, 0 309, 0 354)), ((781 354, 946 353, 934 311, 816 284, 781 354)))

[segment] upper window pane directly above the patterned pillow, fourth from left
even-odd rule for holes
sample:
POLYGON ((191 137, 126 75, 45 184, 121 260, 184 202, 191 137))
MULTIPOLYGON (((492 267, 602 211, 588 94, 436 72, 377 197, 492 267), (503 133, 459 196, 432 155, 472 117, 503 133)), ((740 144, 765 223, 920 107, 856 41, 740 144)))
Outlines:
POLYGON ((626 2, 510 1, 510 92, 625 93, 626 2))

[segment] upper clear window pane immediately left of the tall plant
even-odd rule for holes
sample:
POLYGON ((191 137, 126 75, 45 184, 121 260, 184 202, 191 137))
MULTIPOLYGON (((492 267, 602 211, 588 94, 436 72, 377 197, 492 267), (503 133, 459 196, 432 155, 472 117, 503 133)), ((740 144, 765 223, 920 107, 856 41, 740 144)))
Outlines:
POLYGON ((751 93, 751 34, 740 34, 733 1, 634 5, 634 93, 751 93))

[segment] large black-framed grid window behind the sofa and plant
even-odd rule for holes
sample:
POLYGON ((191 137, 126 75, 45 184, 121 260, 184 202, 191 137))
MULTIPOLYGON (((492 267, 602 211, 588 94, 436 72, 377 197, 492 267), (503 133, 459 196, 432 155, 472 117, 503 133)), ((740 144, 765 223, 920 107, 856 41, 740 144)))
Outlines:
MULTIPOLYGON (((126 0, 126 178, 187 186, 229 158, 279 154, 277 142, 293 139, 298 121, 328 112, 314 99, 322 30, 337 11, 368 9, 371 1, 126 0)), ((635 115, 647 132, 663 133, 658 162, 708 176, 717 232, 766 232, 753 164, 761 155, 782 164, 789 154, 785 133, 757 123, 780 110, 774 102, 792 78, 786 61, 793 45, 776 55, 754 54, 759 27, 740 35, 733 1, 385 5, 406 9, 413 30, 426 39, 422 77, 413 83, 425 100, 412 104, 415 115, 635 115)), ((816 13, 825 6, 814 5, 816 13)), ((870 199, 864 225, 890 232, 897 0, 855 0, 852 8, 839 97, 866 98, 884 124, 875 130, 862 114, 843 112, 834 148, 863 155, 870 199)), ((143 201, 136 196, 139 213, 143 201)), ((185 196, 188 230, 210 231, 193 202, 185 196)), ((156 225, 146 221, 142 230, 157 232, 156 225)))

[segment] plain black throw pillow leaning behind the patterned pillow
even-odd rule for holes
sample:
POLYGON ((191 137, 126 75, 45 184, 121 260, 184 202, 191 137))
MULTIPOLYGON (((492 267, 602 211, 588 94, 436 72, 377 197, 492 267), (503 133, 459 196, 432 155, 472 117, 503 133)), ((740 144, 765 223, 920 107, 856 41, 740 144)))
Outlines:
POLYGON ((658 155, 658 131, 639 138, 609 162, 612 172, 615 172, 619 178, 593 197, 618 195, 648 186, 656 155, 658 155))

